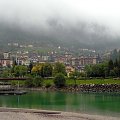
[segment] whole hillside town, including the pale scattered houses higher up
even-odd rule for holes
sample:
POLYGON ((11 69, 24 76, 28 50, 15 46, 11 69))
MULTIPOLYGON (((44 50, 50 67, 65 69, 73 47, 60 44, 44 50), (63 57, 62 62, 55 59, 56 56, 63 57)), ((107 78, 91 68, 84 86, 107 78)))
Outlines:
MULTIPOLYGON (((46 52, 35 52, 32 50, 33 45, 19 45, 18 43, 8 43, 8 47, 18 48, 16 51, 2 51, 0 52, 0 70, 6 67, 16 65, 29 66, 30 63, 63 63, 67 74, 77 70, 84 72, 86 65, 98 64, 102 61, 102 57, 95 53, 95 50, 81 49, 81 55, 75 55, 70 50, 62 50, 58 46, 58 50, 50 50, 46 52), (22 49, 21 49, 22 48, 22 49), (29 50, 26 50, 29 48, 29 50), (62 52, 61 52, 62 51, 62 52), (91 52, 94 54, 84 54, 83 52, 91 52)), ((35 47, 34 47, 35 48, 35 47)), ((43 49, 44 51, 44 49, 43 49)))

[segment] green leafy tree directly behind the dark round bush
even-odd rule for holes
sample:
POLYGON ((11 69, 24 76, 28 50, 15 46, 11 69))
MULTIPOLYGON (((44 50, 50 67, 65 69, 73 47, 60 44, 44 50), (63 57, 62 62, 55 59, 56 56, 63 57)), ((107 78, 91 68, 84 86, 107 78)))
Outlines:
POLYGON ((66 70, 65 70, 65 65, 62 63, 55 63, 54 65, 54 75, 56 75, 57 73, 62 73, 64 75, 66 75, 66 70))

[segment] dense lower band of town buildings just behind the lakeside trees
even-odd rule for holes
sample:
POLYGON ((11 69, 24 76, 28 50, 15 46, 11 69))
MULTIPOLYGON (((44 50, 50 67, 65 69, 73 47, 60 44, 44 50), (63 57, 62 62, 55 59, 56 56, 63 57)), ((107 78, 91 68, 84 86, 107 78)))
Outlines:
POLYGON ((16 62, 18 65, 29 65, 33 63, 55 63, 65 64, 68 73, 78 70, 84 71, 85 65, 100 63, 99 56, 74 56, 68 52, 57 54, 57 52, 48 52, 47 54, 38 54, 34 52, 4 52, 0 53, 0 67, 10 67, 16 62))

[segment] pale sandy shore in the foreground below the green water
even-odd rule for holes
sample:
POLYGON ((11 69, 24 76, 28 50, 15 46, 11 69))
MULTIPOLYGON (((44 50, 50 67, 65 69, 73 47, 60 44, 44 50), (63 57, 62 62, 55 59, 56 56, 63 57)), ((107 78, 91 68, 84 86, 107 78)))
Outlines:
POLYGON ((0 107, 0 120, 119 120, 119 117, 74 112, 0 107))

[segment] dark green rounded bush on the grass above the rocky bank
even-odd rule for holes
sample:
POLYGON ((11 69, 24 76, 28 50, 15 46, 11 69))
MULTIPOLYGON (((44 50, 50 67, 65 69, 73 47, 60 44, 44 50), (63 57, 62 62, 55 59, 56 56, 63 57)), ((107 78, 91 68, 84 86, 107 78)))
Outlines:
POLYGON ((65 83, 66 83, 66 79, 65 79, 64 74, 58 73, 54 78, 55 86, 58 88, 61 88, 61 87, 65 86, 65 83))

